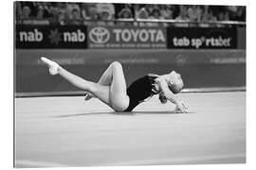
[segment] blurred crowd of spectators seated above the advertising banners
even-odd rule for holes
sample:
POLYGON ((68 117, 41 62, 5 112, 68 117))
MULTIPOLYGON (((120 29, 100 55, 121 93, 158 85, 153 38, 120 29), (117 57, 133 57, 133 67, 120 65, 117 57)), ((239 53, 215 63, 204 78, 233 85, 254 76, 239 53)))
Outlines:
MULTIPOLYGON (((238 6, 16 2, 15 9, 16 24, 24 25, 139 25, 135 22, 105 22, 114 19, 173 19, 201 23, 214 21, 246 22, 246 7, 238 6), (92 22, 88 22, 88 20, 92 22)), ((149 23, 144 25, 152 26, 149 23)), ((157 23, 153 26, 156 25, 157 23)), ((164 26, 170 25, 164 24, 164 26)), ((177 25, 172 24, 172 26, 177 25)), ((182 26, 221 25, 199 24, 182 26)))

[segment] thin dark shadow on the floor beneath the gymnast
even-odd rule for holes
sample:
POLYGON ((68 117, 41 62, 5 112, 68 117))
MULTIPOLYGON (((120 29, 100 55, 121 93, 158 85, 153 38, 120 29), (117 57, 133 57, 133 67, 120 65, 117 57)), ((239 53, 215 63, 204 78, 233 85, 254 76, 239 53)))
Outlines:
POLYGON ((55 118, 66 118, 66 117, 77 117, 77 116, 88 116, 88 115, 108 115, 108 114, 113 114, 113 115, 125 115, 125 116, 134 116, 137 114, 189 114, 189 113, 194 113, 194 112, 187 112, 187 113, 182 113, 182 112, 176 112, 175 110, 172 111, 129 111, 129 112, 86 112, 86 113, 76 113, 76 114, 64 114, 64 115, 58 115, 54 116, 55 118))

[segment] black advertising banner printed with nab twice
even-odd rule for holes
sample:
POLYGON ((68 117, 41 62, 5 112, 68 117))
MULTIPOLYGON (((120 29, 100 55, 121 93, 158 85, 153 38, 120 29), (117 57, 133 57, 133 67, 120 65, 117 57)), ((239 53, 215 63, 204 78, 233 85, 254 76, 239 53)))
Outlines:
POLYGON ((16 48, 86 48, 86 26, 16 25, 16 48))

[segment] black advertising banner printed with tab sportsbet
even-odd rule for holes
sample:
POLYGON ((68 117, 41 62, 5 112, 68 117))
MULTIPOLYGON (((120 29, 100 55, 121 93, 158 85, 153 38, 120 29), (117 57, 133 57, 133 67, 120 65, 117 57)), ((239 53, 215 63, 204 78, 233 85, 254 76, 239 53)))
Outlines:
POLYGON ((234 27, 168 27, 168 48, 234 49, 237 47, 234 27))

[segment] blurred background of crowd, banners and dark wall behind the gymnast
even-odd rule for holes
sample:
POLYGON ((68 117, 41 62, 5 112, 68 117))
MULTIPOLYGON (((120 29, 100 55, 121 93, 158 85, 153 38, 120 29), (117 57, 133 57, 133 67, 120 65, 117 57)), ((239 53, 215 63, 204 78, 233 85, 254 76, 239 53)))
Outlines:
POLYGON ((41 56, 97 81, 119 60, 129 85, 181 73, 184 92, 246 89, 246 7, 15 2, 16 96, 82 94, 41 56))

